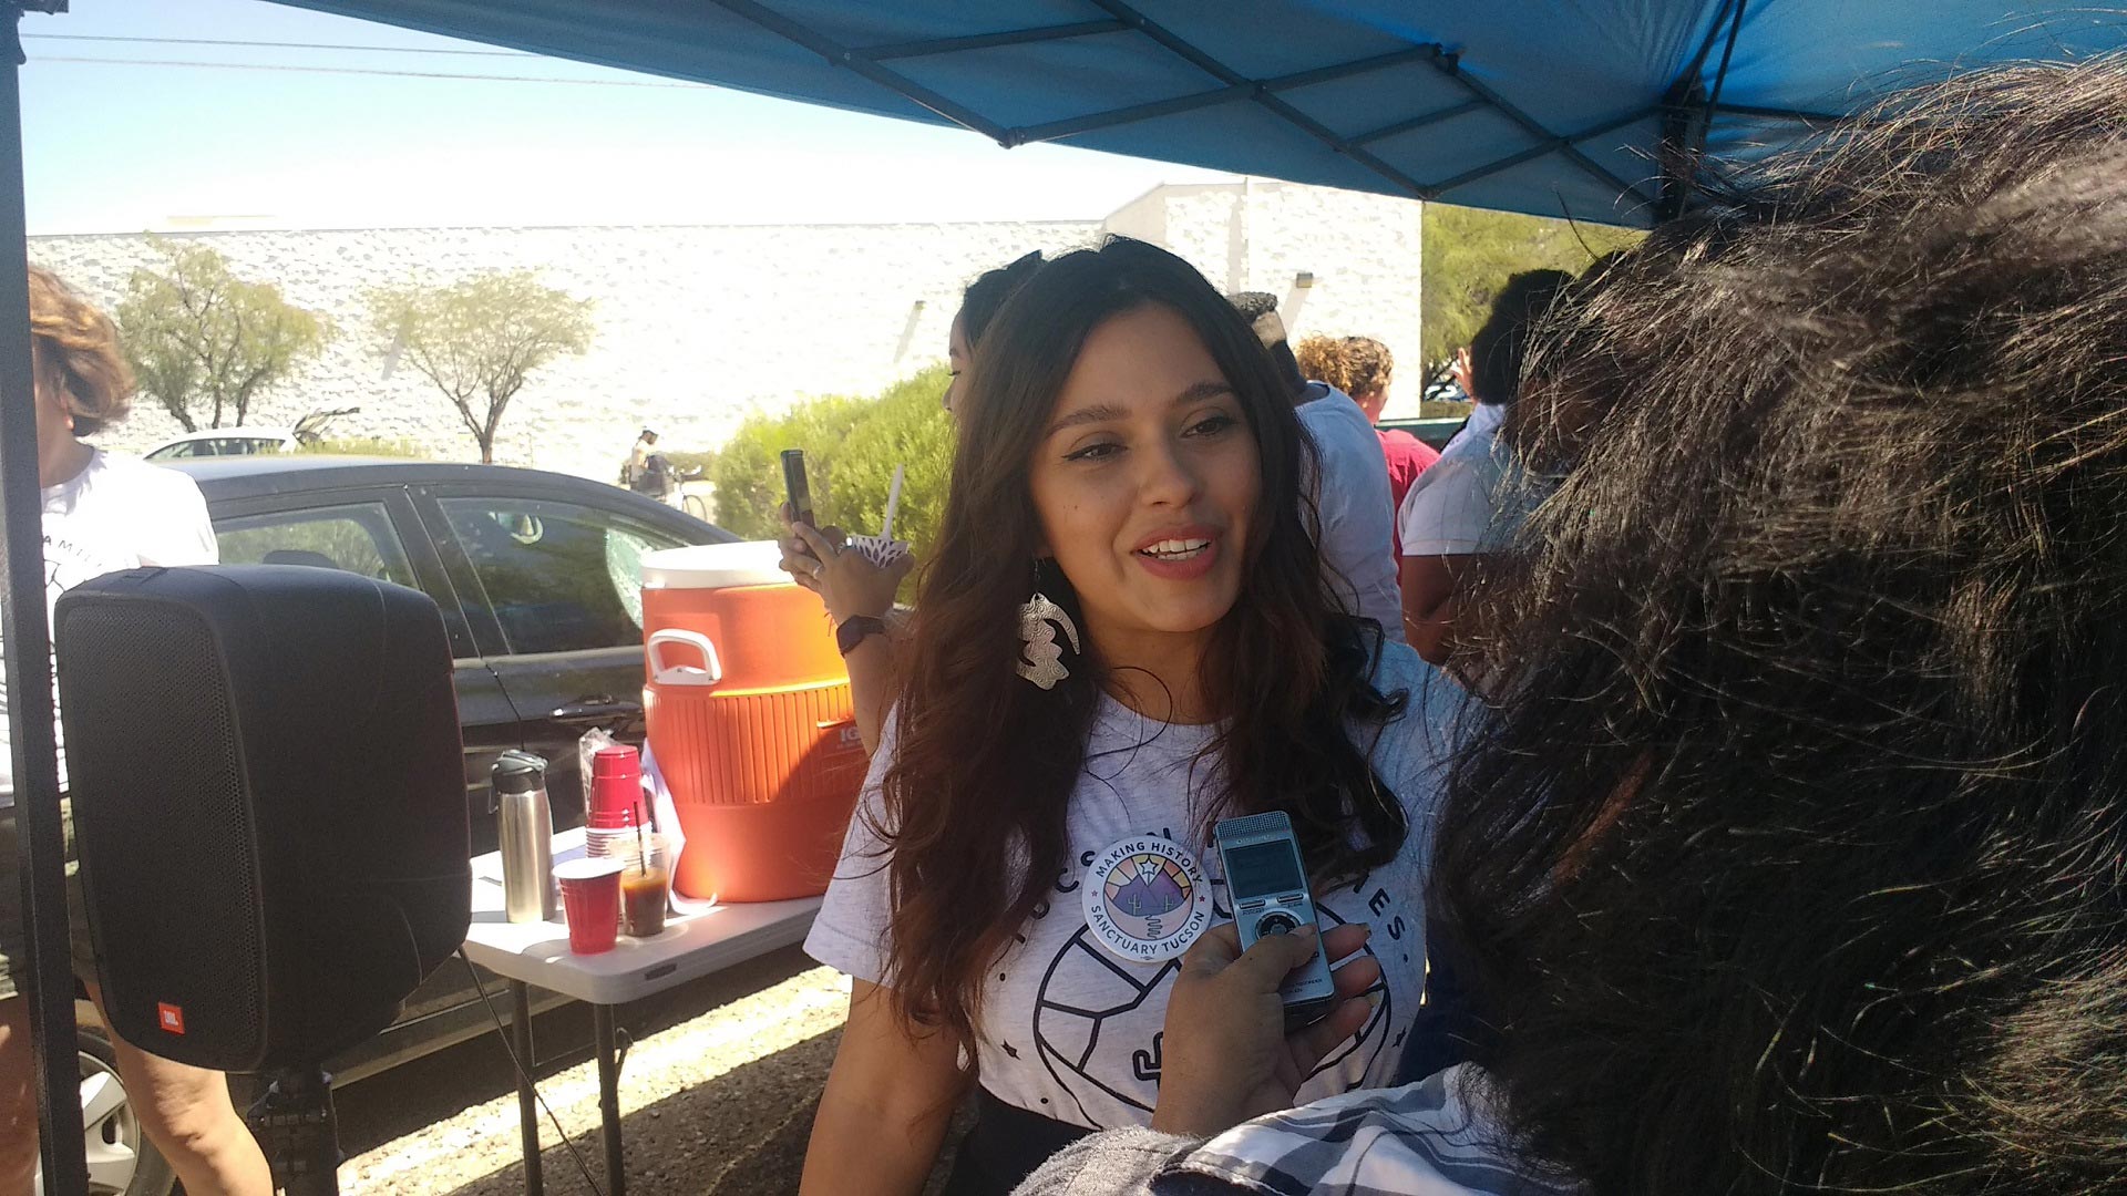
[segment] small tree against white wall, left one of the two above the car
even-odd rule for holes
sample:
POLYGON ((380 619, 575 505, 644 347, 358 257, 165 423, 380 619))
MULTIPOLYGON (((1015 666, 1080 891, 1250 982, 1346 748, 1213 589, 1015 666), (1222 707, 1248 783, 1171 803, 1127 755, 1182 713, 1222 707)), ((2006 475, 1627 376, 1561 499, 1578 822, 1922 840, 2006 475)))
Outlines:
POLYGON ((185 432, 242 426, 251 402, 334 336, 272 283, 249 283, 206 245, 155 240, 166 266, 140 268, 117 306, 119 338, 140 389, 185 432))

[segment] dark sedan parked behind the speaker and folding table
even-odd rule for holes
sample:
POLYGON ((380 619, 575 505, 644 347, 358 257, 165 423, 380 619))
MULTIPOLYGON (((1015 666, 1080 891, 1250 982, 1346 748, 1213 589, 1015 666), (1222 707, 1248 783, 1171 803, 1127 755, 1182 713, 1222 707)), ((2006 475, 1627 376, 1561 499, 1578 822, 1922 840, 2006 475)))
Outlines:
MULTIPOLYGON (((442 607, 474 853, 496 849, 487 770, 504 749, 553 764, 557 830, 583 821, 576 741, 598 726, 640 743, 642 553, 736 538, 615 485, 521 468, 300 453, 170 464, 206 494, 225 564, 345 568, 442 607)), ((332 1073, 359 1079, 491 1028, 451 962, 332 1073)))

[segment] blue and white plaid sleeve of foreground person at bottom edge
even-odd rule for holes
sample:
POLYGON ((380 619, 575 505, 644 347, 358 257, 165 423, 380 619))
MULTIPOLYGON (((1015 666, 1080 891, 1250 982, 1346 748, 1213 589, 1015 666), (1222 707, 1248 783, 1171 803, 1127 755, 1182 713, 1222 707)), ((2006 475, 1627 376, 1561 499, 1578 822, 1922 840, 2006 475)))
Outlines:
POLYGON ((1466 1064, 1406 1087, 1361 1090, 1257 1117, 1210 1141, 1108 1130, 1057 1153, 1015 1196, 1580 1192, 1519 1162, 1487 1113, 1483 1085, 1485 1075, 1466 1064))

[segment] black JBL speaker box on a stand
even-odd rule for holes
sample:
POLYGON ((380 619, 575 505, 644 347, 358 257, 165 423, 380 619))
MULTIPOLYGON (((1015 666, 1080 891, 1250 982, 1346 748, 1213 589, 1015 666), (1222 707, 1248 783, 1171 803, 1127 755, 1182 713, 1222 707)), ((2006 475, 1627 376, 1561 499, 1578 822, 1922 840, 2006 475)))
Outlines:
POLYGON ((138 568, 62 596, 53 645, 113 1030, 270 1070, 389 1026, 472 900, 436 604, 325 568, 138 568))

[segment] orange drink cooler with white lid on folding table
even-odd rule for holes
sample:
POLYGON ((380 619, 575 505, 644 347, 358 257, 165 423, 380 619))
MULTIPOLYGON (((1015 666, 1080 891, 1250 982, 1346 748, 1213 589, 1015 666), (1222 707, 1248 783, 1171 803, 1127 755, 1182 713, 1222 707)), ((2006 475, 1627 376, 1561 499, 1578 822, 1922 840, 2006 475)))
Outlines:
POLYGON ((687 896, 827 890, 870 760, 819 598, 772 541, 642 558, 642 709, 687 847, 687 896))

